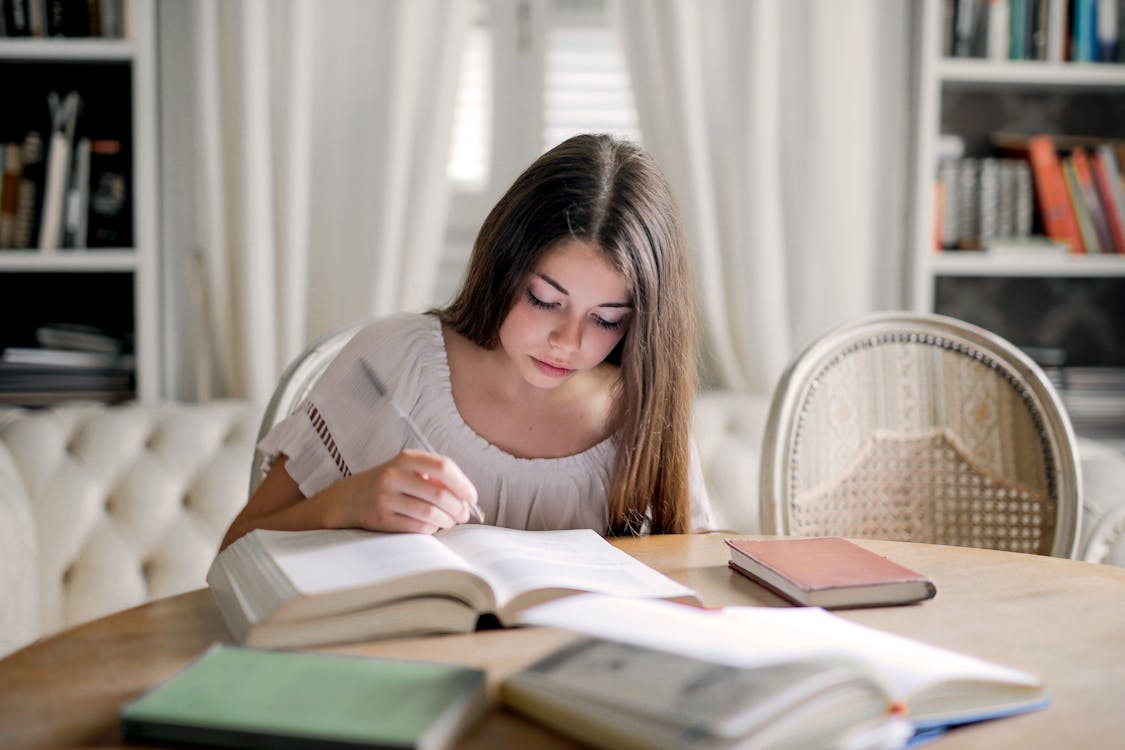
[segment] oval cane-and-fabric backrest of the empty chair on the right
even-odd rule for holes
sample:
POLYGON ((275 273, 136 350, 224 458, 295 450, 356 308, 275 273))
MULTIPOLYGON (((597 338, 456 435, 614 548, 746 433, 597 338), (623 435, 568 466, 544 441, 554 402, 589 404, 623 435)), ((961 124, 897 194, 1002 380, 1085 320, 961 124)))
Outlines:
POLYGON ((763 533, 1071 557, 1081 479, 1043 371, 954 318, 880 313, 819 336, 774 390, 763 533))

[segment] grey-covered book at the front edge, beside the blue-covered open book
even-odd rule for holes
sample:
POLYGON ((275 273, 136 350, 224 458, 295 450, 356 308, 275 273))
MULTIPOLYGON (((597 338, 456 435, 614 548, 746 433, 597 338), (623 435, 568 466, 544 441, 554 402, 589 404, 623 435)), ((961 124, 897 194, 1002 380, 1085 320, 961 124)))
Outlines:
POLYGON ((849 733, 888 719, 883 688, 852 661, 742 668, 596 638, 508 677, 501 701, 613 750, 839 747, 849 733))

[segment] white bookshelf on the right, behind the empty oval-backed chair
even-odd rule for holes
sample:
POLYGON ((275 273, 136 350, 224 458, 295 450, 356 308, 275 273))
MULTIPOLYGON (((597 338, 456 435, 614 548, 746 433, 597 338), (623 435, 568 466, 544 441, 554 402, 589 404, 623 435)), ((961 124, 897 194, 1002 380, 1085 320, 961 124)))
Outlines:
MULTIPOLYGON (((1016 7, 1014 0, 1000 4, 1016 7)), ((1044 9, 1048 4, 1044 0, 1044 9)), ((1125 141, 1125 63, 1011 60, 1002 53, 989 57, 980 47, 971 56, 955 56, 951 15, 955 19, 962 7, 976 8, 976 22, 988 24, 991 6, 983 0, 922 0, 916 6, 911 306, 983 325, 1024 346, 1058 378, 1076 430, 1119 439, 1125 436, 1125 254, 1032 247, 1001 252, 988 250, 987 240, 952 249, 948 214, 944 225, 942 214, 950 210, 945 201, 951 193, 939 193, 936 183, 951 142, 953 155, 961 159, 1026 163, 1026 156, 1005 151, 1000 134, 1125 141), (1089 374, 1097 376, 1097 392, 1074 385, 1090 382, 1089 374)), ((1065 0, 1061 7, 1073 13, 1076 3, 1065 0)), ((948 174, 944 172, 946 181, 948 174)), ((1025 229, 1037 237, 1045 231, 1034 178, 1030 184, 1025 229)), ((976 222, 983 222, 981 215, 976 222)))

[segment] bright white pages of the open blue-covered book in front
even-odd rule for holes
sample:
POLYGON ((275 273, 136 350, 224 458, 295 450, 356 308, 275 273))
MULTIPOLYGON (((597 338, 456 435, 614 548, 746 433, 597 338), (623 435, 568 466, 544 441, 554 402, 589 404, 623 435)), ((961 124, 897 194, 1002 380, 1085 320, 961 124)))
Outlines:
POLYGON ((735 667, 810 657, 857 659, 902 701, 945 680, 1041 685, 1027 672, 858 625, 816 607, 704 611, 667 602, 578 596, 528 609, 520 621, 735 667))

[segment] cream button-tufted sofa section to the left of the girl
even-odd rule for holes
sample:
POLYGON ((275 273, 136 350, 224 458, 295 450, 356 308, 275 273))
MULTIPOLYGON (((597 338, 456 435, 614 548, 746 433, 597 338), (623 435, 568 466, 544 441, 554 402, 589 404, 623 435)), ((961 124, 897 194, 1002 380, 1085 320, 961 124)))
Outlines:
POLYGON ((0 418, 0 653, 202 586, 245 501, 256 415, 218 401, 0 418))

